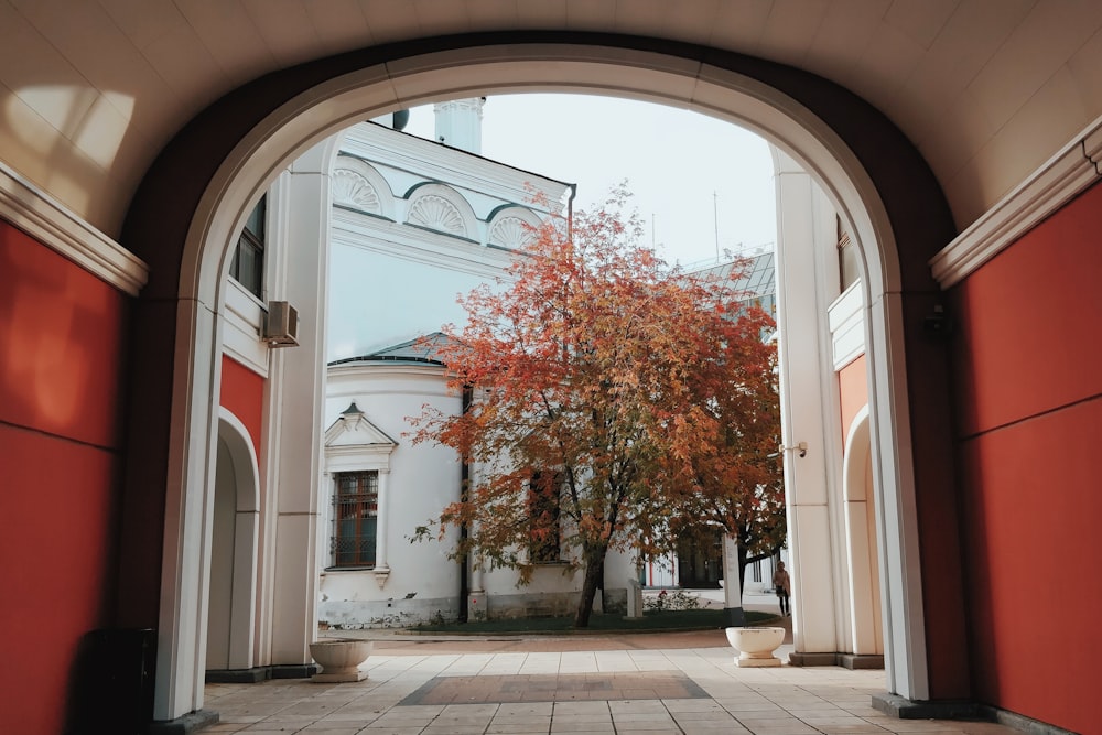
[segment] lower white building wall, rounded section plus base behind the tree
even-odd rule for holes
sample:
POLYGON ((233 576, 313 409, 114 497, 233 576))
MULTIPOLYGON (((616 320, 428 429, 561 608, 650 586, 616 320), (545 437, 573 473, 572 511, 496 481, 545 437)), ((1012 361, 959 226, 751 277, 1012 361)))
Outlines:
MULTIPOLYGON (((328 407, 344 411, 326 432, 322 495, 335 489, 338 473, 379 471, 378 542, 374 566, 342 569, 327 539, 336 520, 334 504, 323 510, 326 543, 318 549, 318 619, 342 629, 400 627, 469 617, 566 615, 577 605, 580 571, 562 563, 537 568, 519 585, 514 570, 485 571, 447 558, 457 531, 443 540, 412 542, 414 529, 460 499, 462 467, 449 447, 413 444, 409 417, 431 406, 457 414, 461 399, 446 389, 444 368, 430 363, 356 359, 329 368, 328 407), (349 410, 355 409, 349 413, 349 410), (361 413, 360 413, 361 412, 361 413), (355 417, 349 419, 349 415, 355 417), (357 428, 354 429, 352 425, 357 428)), ((634 564, 609 553, 605 565, 605 605, 626 605, 634 564)))

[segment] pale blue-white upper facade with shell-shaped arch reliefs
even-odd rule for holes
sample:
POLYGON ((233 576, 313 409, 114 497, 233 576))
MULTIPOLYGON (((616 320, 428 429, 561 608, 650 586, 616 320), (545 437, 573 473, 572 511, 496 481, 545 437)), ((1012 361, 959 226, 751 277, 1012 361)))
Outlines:
POLYGON ((331 180, 329 361, 462 320, 456 296, 569 204, 566 184, 370 122, 342 136, 331 180))

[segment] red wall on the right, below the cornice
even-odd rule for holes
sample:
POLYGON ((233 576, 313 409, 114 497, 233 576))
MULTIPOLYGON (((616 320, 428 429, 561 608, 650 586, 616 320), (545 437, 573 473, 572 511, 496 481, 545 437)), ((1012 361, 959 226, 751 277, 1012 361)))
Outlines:
POLYGON ((980 701, 1099 733, 1102 185, 954 291, 965 581, 980 701))

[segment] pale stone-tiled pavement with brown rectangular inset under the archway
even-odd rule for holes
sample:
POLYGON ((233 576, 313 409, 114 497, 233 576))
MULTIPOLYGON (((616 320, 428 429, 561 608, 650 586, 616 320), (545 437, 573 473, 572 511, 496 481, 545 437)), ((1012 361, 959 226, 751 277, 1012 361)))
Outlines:
MULTIPOLYGON (((786 619, 790 628, 790 619, 786 619)), ((344 635, 344 634, 342 634, 344 635)), ((991 723, 874 710, 884 672, 738 668, 722 630, 425 637, 359 631, 364 681, 207 684, 206 733, 328 735, 1009 735, 991 723)), ((778 650, 787 661, 791 636, 778 650)))

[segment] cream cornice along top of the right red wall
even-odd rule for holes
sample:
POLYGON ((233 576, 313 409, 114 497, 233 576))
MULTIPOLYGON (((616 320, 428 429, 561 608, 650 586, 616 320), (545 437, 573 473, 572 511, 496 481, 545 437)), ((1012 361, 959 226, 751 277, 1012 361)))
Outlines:
POLYGON ((1102 118, 957 236, 930 260, 949 289, 997 256, 1083 190, 1102 180, 1102 118))

